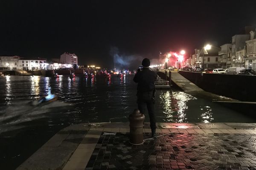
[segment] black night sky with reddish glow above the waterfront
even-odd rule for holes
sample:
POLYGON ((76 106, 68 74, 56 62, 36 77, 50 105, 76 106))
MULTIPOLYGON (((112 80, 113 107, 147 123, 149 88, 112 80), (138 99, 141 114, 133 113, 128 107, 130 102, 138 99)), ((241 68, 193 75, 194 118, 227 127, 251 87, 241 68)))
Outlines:
POLYGON ((230 43, 244 26, 256 26, 256 0, 1 0, 0 56, 70 52, 79 65, 113 68, 115 53, 131 67, 159 51, 230 43))

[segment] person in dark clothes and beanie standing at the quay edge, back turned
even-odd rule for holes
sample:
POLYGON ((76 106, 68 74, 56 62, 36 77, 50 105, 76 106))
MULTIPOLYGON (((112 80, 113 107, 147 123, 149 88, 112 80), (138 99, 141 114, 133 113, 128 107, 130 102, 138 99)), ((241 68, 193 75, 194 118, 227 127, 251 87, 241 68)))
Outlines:
POLYGON ((137 103, 138 109, 141 113, 145 114, 145 107, 148 108, 148 114, 150 119, 150 127, 152 137, 156 136, 156 118, 154 115, 154 95, 155 86, 154 82, 157 79, 157 74, 154 71, 149 70, 150 60, 145 58, 142 60, 143 68, 138 69, 134 76, 134 82, 138 83, 137 87, 137 103))

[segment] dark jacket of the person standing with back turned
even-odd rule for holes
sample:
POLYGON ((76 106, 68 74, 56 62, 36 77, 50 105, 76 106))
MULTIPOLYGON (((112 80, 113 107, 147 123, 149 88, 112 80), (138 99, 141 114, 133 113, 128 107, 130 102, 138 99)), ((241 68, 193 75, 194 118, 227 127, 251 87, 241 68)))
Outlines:
POLYGON ((143 68, 142 71, 138 71, 134 76, 134 82, 138 83, 138 92, 153 91, 156 79, 157 74, 149 70, 149 68, 143 68))

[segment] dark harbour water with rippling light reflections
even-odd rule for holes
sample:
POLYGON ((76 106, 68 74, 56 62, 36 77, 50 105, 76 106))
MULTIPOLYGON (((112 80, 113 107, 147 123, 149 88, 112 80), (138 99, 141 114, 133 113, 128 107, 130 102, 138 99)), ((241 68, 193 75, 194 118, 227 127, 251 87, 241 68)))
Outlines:
MULTIPOLYGON (((60 129, 85 122, 128 122, 137 108, 133 75, 124 78, 70 79, 0 77, 0 165, 15 169, 60 129), (29 101, 47 94, 58 101, 32 107, 29 101)), ((157 122, 256 122, 212 99, 170 89, 158 90, 157 122)), ((148 116, 146 115, 146 120, 148 116)))

